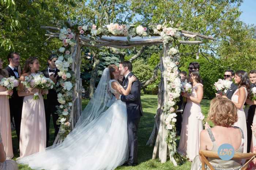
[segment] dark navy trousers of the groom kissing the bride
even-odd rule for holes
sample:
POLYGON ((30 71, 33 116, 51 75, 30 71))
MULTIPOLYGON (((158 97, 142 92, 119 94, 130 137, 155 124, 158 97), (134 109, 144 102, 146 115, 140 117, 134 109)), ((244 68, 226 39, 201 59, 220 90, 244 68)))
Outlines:
POLYGON ((138 119, 128 120, 128 146, 129 146, 129 158, 128 162, 138 163, 138 126, 140 123, 140 117, 138 119))

